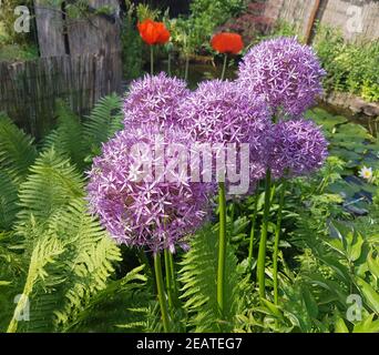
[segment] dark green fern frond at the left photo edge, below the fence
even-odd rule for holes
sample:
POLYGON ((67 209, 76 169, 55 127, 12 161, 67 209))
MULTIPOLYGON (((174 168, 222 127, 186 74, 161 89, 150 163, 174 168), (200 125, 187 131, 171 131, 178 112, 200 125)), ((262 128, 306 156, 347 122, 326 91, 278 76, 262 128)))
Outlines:
POLYGON ((21 182, 35 156, 33 140, 0 113, 0 170, 7 170, 14 181, 21 182))

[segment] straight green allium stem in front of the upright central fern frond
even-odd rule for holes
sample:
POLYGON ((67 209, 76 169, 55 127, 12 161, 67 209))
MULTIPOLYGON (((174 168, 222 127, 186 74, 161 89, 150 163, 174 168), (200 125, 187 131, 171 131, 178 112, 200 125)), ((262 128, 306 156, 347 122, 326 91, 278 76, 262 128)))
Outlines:
POLYGON ((217 304, 221 315, 224 314, 224 281, 226 254, 226 196, 225 182, 218 183, 219 240, 217 267, 217 304))

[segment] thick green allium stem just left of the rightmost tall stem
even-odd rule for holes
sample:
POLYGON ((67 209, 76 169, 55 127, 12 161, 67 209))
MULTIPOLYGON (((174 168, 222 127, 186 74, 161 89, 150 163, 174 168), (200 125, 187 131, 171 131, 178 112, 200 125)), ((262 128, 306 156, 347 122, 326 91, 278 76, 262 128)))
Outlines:
POLYGON ((267 229, 268 229, 268 216, 270 209, 270 189, 272 189, 272 172, 269 169, 266 171, 266 184, 265 184, 265 209, 262 222, 262 232, 258 251, 257 262, 257 280, 259 285, 259 296, 265 298, 265 262, 266 262, 266 241, 267 241, 267 229))

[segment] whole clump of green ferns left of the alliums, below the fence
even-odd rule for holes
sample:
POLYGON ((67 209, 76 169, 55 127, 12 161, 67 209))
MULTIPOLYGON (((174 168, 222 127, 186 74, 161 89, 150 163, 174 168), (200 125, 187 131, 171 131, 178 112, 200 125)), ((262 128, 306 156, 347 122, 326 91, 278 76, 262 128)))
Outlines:
POLYGON ((143 267, 112 281, 121 252, 89 214, 80 170, 84 148, 98 149, 120 126, 120 104, 115 95, 102 99, 82 125, 59 103, 58 128, 41 151, 1 118, 1 331, 124 332, 152 324, 143 267), (106 307, 113 313, 98 313, 106 307), (20 321, 25 312, 29 320, 20 321))

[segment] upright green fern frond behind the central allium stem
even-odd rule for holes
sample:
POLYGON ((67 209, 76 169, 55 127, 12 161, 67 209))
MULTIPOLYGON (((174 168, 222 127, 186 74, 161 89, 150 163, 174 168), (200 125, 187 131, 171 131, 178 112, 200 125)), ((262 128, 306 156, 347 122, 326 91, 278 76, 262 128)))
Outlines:
POLYGON ((217 233, 209 226, 197 233, 191 250, 181 263, 180 281, 183 283, 182 296, 188 312, 190 325, 195 332, 219 332, 233 329, 237 311, 238 283, 237 260, 228 244, 225 262, 225 314, 219 318, 217 305, 217 233))

